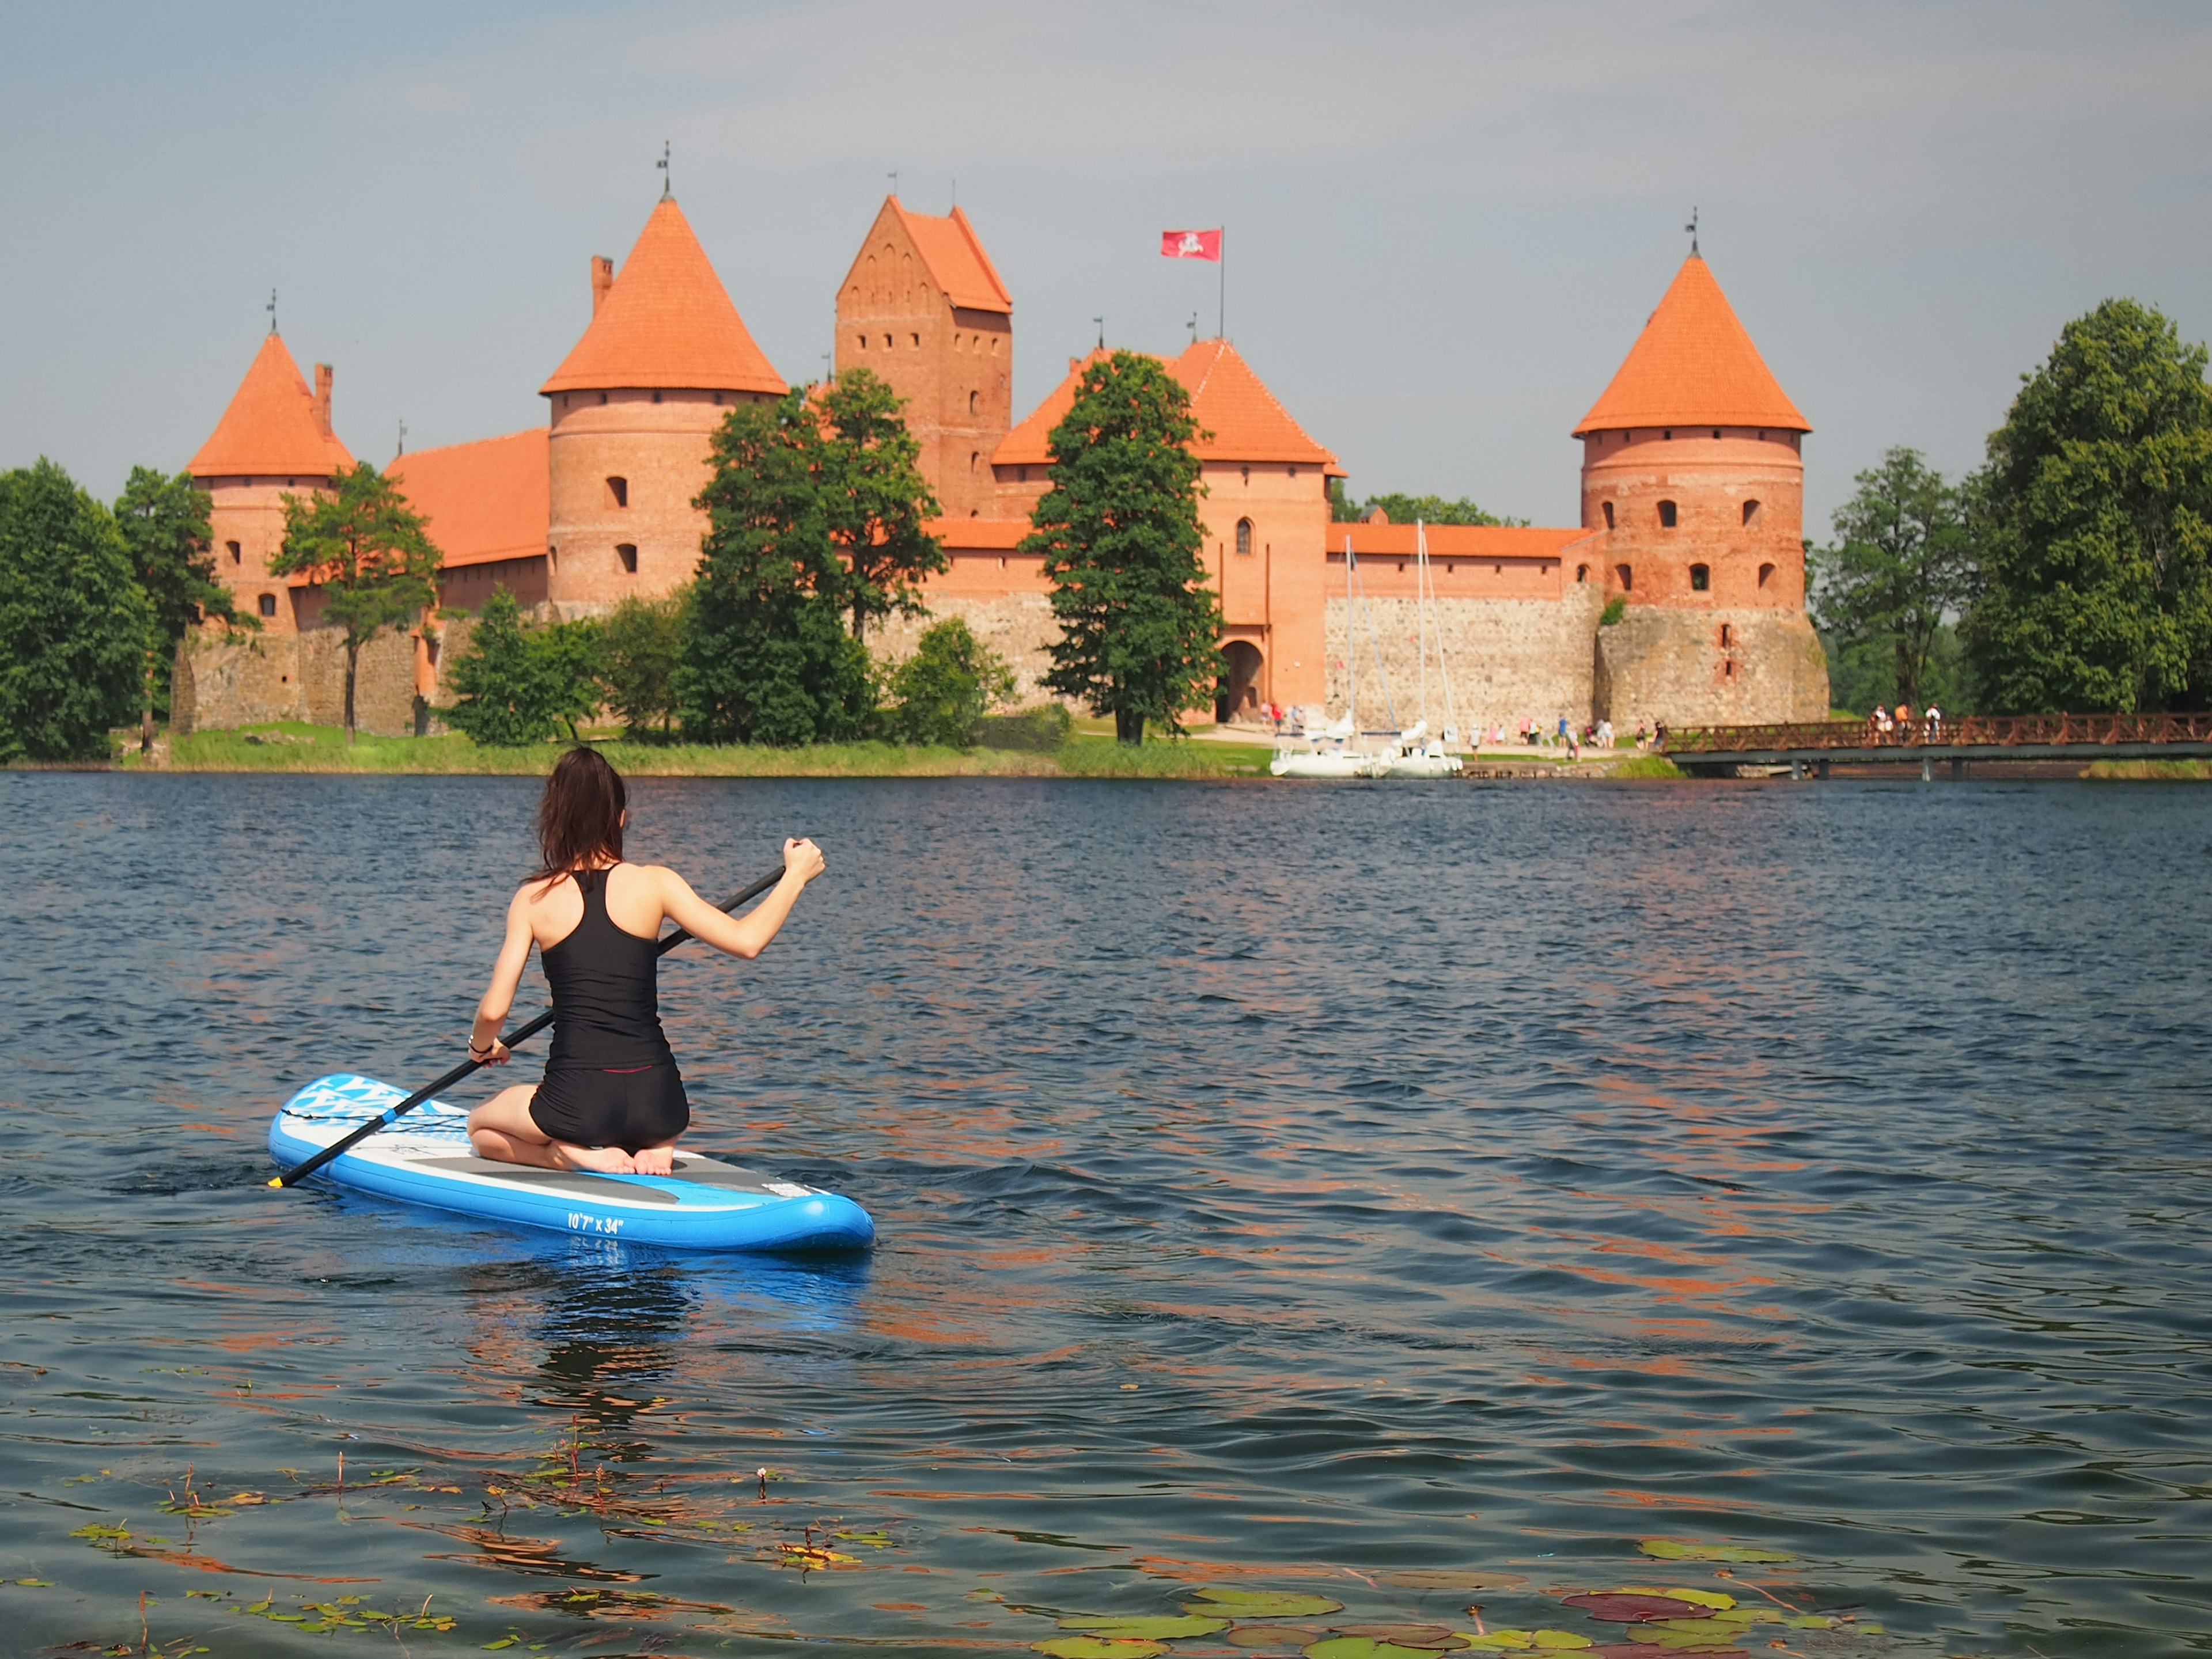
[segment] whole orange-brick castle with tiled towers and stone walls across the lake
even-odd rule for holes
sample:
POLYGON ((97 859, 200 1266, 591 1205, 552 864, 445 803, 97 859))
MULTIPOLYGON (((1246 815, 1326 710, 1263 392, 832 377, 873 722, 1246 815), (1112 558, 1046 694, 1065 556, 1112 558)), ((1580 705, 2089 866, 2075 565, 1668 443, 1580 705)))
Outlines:
MULTIPOLYGON (((653 208, 619 272, 591 261, 591 307, 584 336, 540 387, 549 425, 392 467, 431 520, 451 606, 476 606, 498 584, 526 604, 591 615, 677 586, 699 553, 703 515, 690 502, 706 482, 708 434, 728 405, 785 392, 672 199, 653 208)), ((933 529, 951 568, 929 584, 931 611, 967 617, 1033 688, 1051 615, 1040 560, 1015 544, 1084 361, 1071 358, 1015 422, 1006 285, 967 215, 911 212, 898 197, 863 239, 836 319, 836 367, 869 367, 907 398, 945 511, 933 529)), ((1413 526, 1332 524, 1336 456, 1228 341, 1197 341, 1168 369, 1208 431, 1201 515, 1225 619, 1223 708, 1340 708, 1347 646, 1363 657, 1374 648, 1365 619, 1347 626, 1347 542, 1385 664, 1409 677, 1413 526)), ((349 462, 330 394, 330 367, 316 365, 310 392, 272 332, 190 462, 212 495, 219 571, 268 633, 259 648, 199 641, 188 653, 184 726, 312 719, 334 701, 319 591, 268 575, 283 493, 349 462)), ((1809 429, 1692 250, 1575 427, 1582 524, 1429 531, 1462 717, 1632 728, 1825 714, 1798 540, 1809 429), (1615 597, 1626 608, 1604 626, 1615 597)), ((916 626, 894 626, 883 644, 900 650, 916 626)), ((429 641, 383 641, 365 664, 363 723, 400 730, 416 692, 438 701, 438 655, 429 641)))

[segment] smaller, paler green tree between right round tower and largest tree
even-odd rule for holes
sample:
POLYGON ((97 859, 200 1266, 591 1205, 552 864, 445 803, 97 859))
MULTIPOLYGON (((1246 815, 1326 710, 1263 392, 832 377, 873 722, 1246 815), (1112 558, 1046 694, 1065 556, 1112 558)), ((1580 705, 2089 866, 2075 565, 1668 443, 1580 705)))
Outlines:
POLYGON ((1960 493, 1918 449, 1889 449, 1858 473, 1834 526, 1836 544, 1814 564, 1820 633, 1845 650, 1887 655, 1891 692, 1922 708, 1944 624, 1971 591, 1960 493))

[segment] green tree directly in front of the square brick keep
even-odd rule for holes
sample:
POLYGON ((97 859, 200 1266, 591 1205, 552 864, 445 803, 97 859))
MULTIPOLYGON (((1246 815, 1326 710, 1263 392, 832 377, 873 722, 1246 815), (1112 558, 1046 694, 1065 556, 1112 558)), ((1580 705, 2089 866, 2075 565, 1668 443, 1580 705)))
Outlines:
POLYGON ((814 469, 830 540, 845 560, 854 639, 867 639, 869 617, 918 615, 920 580, 949 564, 945 544, 922 531, 938 500, 922 478, 922 445, 907 431, 905 407, 867 369, 845 369, 821 396, 814 469))

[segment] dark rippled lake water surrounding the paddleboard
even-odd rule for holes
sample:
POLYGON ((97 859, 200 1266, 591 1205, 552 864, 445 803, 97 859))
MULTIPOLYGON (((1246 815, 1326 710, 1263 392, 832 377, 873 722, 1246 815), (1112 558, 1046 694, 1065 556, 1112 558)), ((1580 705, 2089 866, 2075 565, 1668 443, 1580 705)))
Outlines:
POLYGON ((268 1190, 460 1057, 533 801, 0 774, 9 1652, 2212 1650, 2212 792, 648 781, 827 849, 664 1011, 874 1254, 268 1190))

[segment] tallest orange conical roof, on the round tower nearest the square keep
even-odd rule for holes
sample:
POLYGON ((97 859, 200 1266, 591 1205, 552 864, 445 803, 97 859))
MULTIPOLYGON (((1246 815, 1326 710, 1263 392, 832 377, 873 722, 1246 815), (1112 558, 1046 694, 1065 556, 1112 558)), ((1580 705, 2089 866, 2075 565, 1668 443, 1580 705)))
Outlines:
POLYGON ((615 387, 785 392, 672 197, 653 208, 584 338, 538 392, 615 387))

